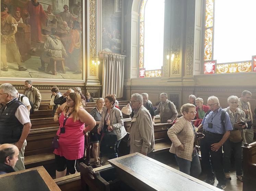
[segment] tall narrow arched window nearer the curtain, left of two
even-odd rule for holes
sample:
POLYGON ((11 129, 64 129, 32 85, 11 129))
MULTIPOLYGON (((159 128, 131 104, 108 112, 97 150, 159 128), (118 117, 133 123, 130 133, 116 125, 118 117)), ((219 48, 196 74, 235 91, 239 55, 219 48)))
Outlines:
POLYGON ((142 0, 139 15, 139 77, 162 76, 164 0, 142 0))

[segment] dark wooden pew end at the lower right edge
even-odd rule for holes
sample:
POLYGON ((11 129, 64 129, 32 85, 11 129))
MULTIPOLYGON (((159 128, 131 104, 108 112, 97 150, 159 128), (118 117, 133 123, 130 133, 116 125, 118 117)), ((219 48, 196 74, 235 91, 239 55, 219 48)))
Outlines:
POLYGON ((256 142, 245 143, 243 148, 243 191, 256 188, 256 142))

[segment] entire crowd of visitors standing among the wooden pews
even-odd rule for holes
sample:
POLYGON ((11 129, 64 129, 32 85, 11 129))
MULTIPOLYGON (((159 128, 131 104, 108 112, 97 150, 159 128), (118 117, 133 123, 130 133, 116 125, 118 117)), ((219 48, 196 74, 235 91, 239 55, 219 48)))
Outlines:
MULTIPOLYGON (((31 81, 27 80, 25 86, 23 100, 30 98, 29 100, 33 101, 31 97, 39 97, 37 96, 39 91, 32 86, 31 81)), ((89 94, 85 97, 81 88, 69 89, 61 96, 58 87, 53 86, 51 92, 50 105, 54 108, 54 120, 60 123, 56 134, 58 147, 54 149, 57 178, 65 176, 67 170, 70 174, 76 172, 76 160, 84 156, 84 135, 87 132, 90 133, 93 145, 95 166, 101 165, 99 153, 100 147, 104 145, 100 145, 100 142, 110 132, 115 135, 116 141, 113 152, 107 153, 107 156, 109 159, 118 157, 118 147, 121 139, 126 135, 126 130, 116 95, 109 94, 104 99, 97 99, 96 107, 88 113, 84 109, 83 101, 86 103, 94 100, 88 96, 89 94)), ((7 169, 6 165, 14 167, 15 170, 25 169, 24 149, 31 122, 29 106, 19 101, 22 96, 23 94, 17 93, 11 84, 6 83, 0 86, 2 105, 0 144, 3 144, 0 146, 0 152, 10 153, 8 159, 0 158, 0 162, 4 163, 2 167, 0 165, 0 173, 2 169, 7 169), (19 154, 16 152, 17 149, 19 154), (13 161, 10 162, 9 159, 13 161)), ((134 93, 129 104, 132 108, 129 134, 130 153, 140 152, 147 155, 153 151, 154 119, 155 115, 160 113, 161 123, 173 123, 167 134, 172 142, 170 152, 175 154, 180 171, 194 177, 200 175, 201 166, 194 144, 200 139, 202 166, 207 174, 206 182, 213 184, 216 176, 217 187, 225 189, 226 179, 231 179, 232 150, 235 157, 236 177, 242 181, 241 146, 242 143, 253 142, 253 115, 249 103, 251 96, 252 93, 247 90, 242 92, 241 98, 231 95, 227 100, 229 106, 222 109, 219 99, 215 96, 210 96, 207 105, 203 105, 202 98, 190 95, 189 103, 181 107, 182 117, 177 118, 178 112, 174 103, 168 100, 167 93, 160 94, 161 102, 156 109, 148 100, 147 93, 134 93), (194 119, 195 122, 192 123, 194 119), (222 146, 224 154, 222 154, 222 146)), ((38 109, 39 104, 40 101, 39 103, 35 101, 34 108, 38 109)))

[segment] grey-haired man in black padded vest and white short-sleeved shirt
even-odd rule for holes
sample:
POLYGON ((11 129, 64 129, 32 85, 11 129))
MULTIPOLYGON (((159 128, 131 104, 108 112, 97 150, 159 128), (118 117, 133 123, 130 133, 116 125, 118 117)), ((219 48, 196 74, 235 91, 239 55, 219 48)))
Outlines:
POLYGON ((16 97, 16 89, 9 83, 0 86, 0 144, 11 143, 18 147, 19 161, 15 171, 25 170, 24 150, 31 123, 26 106, 16 97))

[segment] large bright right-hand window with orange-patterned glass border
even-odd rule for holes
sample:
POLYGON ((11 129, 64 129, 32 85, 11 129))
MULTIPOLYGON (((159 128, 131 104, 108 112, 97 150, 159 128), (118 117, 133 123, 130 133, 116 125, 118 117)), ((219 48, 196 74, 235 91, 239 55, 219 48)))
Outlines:
POLYGON ((205 0, 204 74, 256 71, 255 0, 205 0))

